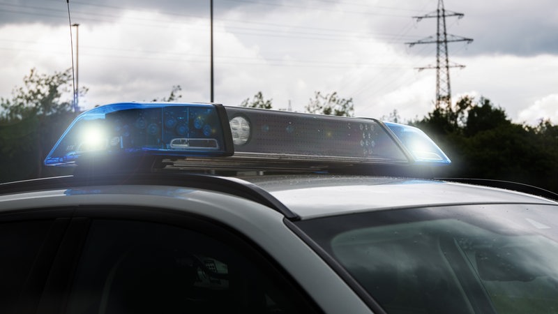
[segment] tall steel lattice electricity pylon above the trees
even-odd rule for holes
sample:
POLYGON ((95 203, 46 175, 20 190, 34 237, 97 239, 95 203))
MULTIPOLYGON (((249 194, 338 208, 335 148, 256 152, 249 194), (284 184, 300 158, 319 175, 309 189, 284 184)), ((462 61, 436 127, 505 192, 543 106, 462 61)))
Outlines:
POLYGON ((414 16, 417 22, 423 19, 436 17, 438 22, 438 28, 436 33, 436 40, 429 36, 427 38, 417 40, 413 43, 407 43, 409 47, 419 44, 430 44, 435 43, 437 45, 436 50, 436 66, 424 66, 417 68, 418 70, 425 70, 430 68, 436 69, 436 107, 441 107, 446 105, 446 108, 451 107, 451 85, 449 83, 449 68, 465 68, 460 64, 449 64, 448 60, 448 43, 456 41, 466 41, 471 43, 472 38, 465 38, 461 36, 454 36, 446 33, 446 17, 458 17, 462 18, 463 13, 455 13, 447 11, 444 9, 444 1, 438 0, 438 8, 435 12, 428 13, 423 16, 414 16))

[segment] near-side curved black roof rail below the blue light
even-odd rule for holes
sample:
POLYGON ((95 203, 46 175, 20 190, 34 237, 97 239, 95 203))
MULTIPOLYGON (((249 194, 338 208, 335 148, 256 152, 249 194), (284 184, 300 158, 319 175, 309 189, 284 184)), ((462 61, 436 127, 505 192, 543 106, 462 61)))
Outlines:
POLYGON ((39 190, 67 189, 80 186, 107 185, 165 185, 184 188, 200 188, 227 193, 263 204, 290 220, 299 220, 299 216, 288 209, 269 192, 248 181, 233 177, 217 177, 206 174, 190 173, 121 173, 100 174, 89 176, 66 176, 45 179, 33 179, 0 184, 0 195, 8 193, 24 193, 39 190))

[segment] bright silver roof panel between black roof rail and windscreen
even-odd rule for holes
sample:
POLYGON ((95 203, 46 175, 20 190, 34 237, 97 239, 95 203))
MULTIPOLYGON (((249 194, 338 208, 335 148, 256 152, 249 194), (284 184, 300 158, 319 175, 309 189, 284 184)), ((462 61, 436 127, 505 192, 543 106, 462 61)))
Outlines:
POLYGON ((512 190, 434 179, 322 174, 246 179, 276 197, 301 219, 455 204, 558 204, 512 190))

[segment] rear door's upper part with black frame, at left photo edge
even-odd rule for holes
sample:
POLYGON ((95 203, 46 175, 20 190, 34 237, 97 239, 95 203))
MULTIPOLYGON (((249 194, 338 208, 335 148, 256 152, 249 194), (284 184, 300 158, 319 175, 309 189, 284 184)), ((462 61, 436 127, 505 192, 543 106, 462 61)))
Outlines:
POLYGON ((0 214, 0 313, 35 313, 73 208, 0 214))

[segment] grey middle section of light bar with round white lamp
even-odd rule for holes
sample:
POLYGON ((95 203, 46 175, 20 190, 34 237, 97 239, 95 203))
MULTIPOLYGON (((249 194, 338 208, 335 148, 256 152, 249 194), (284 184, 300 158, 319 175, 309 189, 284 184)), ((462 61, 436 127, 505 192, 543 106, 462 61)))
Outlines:
POLYGON ((342 163, 408 164, 389 130, 373 119, 225 107, 234 156, 342 163))

